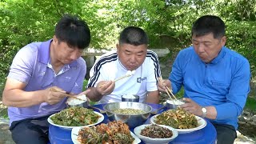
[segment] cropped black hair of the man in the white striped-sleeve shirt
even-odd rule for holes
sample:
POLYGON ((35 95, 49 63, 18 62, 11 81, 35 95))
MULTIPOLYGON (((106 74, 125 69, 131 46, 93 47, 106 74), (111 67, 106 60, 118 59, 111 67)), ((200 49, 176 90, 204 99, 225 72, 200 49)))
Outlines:
POLYGON ((148 44, 149 40, 146 32, 139 27, 128 26, 122 30, 119 38, 119 44, 130 44, 134 46, 139 46, 143 44, 148 44))

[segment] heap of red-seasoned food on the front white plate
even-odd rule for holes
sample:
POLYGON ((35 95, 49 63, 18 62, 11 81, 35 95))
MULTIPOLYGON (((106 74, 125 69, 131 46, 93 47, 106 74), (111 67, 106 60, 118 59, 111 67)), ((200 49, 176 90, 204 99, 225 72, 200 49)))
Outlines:
POLYGON ((78 131, 78 142, 81 144, 128 144, 134 142, 134 138, 131 136, 129 126, 126 123, 113 121, 98 126, 82 127, 78 131))

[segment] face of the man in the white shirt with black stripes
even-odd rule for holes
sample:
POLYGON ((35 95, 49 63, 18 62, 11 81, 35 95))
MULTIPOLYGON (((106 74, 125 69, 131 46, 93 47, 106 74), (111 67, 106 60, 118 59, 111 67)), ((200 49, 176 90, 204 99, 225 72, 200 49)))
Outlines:
POLYGON ((118 58, 127 70, 136 70, 146 58, 146 45, 133 46, 130 44, 117 45, 118 58))

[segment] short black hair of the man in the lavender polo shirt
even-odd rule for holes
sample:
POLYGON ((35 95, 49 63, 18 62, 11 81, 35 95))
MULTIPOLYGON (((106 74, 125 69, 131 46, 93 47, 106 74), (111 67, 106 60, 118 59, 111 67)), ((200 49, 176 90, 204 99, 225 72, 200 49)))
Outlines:
POLYGON ((70 47, 85 49, 90 44, 90 29, 76 16, 65 14, 55 27, 55 36, 70 47))

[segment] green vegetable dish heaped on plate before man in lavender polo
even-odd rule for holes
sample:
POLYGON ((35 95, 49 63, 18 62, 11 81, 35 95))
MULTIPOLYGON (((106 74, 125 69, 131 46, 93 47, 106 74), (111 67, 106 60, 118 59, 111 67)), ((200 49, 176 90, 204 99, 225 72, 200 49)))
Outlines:
POLYGON ((50 119, 60 126, 86 126, 98 122, 100 117, 94 110, 76 106, 62 110, 50 119))

